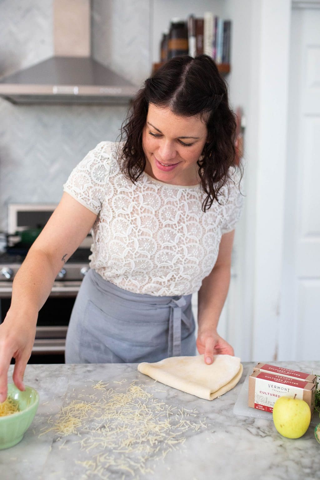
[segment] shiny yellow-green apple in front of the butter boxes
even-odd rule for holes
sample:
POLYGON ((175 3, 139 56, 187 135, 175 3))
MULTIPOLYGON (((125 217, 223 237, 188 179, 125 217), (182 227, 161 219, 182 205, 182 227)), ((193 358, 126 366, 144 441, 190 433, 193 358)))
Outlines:
POLYGON ((311 420, 308 403, 287 396, 281 396, 274 403, 272 415, 275 428, 287 438, 302 437, 307 432, 311 420))

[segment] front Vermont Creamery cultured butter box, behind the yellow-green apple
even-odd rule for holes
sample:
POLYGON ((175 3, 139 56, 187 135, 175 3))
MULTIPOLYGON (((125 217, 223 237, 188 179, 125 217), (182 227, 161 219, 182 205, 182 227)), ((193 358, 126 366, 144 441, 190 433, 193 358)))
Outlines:
POLYGON ((281 396, 305 400, 311 410, 314 410, 316 384, 294 378, 274 375, 273 373, 256 370, 249 376, 248 405, 266 412, 273 411, 274 402, 281 396))

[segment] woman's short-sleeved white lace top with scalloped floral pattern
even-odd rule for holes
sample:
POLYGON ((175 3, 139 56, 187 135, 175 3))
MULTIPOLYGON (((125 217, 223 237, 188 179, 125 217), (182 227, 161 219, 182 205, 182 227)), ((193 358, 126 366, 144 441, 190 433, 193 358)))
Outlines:
MULTIPOLYGON (((120 147, 121 148, 121 145, 120 147)), ((64 185, 97 214, 90 266, 135 293, 187 295, 201 287, 217 259, 221 235, 235 228, 242 195, 225 186, 218 204, 201 210, 201 187, 154 180, 145 172, 134 185, 119 169, 117 144, 101 142, 73 169, 64 185)))

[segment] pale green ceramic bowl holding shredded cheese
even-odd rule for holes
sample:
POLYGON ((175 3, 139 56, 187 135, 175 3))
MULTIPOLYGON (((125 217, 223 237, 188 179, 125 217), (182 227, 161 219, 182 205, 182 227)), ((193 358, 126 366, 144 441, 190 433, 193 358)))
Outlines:
POLYGON ((8 384, 8 396, 19 403, 19 411, 0 417, 0 450, 12 447, 22 440, 39 405, 39 394, 32 387, 26 386, 25 391, 21 392, 15 384, 8 384))

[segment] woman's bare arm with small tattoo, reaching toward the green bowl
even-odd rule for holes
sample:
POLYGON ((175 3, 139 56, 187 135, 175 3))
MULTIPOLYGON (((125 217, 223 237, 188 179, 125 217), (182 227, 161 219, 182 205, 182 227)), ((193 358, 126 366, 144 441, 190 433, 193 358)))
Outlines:
POLYGON ((87 236, 96 216, 64 192, 14 277, 11 306, 0 324, 0 402, 7 396, 12 358, 13 382, 24 390, 24 370, 35 340, 38 312, 59 271, 87 236))

